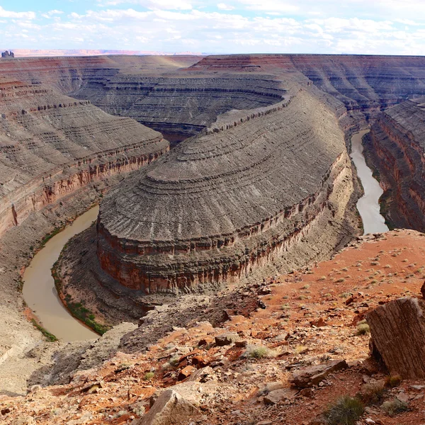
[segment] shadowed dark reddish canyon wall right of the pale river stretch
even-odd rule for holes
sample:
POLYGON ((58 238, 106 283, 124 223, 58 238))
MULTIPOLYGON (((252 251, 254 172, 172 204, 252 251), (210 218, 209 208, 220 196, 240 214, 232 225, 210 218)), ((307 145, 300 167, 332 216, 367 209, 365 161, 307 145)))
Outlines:
POLYGON ((366 144, 380 172, 384 212, 395 227, 425 231, 425 97, 388 108, 366 144))

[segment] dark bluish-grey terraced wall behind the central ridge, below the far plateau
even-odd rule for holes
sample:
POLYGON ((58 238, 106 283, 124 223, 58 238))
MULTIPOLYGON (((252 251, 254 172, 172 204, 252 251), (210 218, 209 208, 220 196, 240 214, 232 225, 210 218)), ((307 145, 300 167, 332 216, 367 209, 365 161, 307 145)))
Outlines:
POLYGON ((221 113, 280 101, 286 93, 281 85, 282 81, 269 75, 118 74, 110 79, 89 79, 71 95, 89 99, 108 113, 133 118, 173 142, 198 134, 221 113))

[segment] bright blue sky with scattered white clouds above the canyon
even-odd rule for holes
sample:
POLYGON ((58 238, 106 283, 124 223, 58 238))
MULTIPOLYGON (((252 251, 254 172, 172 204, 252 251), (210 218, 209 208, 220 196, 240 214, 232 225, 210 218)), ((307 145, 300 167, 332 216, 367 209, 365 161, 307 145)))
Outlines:
POLYGON ((425 55, 425 0, 0 0, 0 48, 425 55))

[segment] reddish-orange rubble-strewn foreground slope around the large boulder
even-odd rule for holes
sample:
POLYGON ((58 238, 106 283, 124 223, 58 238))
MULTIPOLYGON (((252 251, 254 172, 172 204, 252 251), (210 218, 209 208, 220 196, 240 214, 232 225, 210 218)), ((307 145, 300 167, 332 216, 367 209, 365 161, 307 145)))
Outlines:
POLYGON ((157 308, 104 363, 63 385, 1 396, 0 423, 319 425, 344 423, 349 412, 348 424, 423 424, 425 380, 369 358, 365 317, 399 297, 421 297, 424 237, 395 230, 358 238, 329 261, 266 279, 255 310, 226 310, 214 325, 201 318, 181 327, 169 307, 157 308), (157 341, 123 352, 167 318, 174 327, 157 341))

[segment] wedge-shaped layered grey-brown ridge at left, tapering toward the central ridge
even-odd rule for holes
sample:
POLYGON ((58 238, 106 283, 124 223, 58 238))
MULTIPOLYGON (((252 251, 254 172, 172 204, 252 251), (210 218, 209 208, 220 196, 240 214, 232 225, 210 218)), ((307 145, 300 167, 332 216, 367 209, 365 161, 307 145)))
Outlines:
POLYGON ((88 183, 169 149, 154 130, 42 84, 0 79, 0 234, 88 183))

